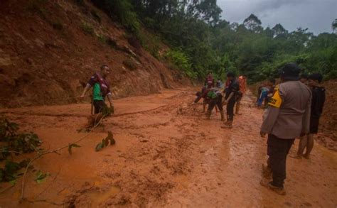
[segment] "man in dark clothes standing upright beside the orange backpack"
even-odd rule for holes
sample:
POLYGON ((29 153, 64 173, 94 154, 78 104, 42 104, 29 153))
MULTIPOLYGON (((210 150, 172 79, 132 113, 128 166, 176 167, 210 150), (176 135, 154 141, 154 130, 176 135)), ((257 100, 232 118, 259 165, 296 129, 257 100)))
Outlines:
POLYGON ((227 73, 227 82, 228 87, 225 89, 225 100, 223 101, 223 105, 227 104, 227 121, 224 126, 221 126, 221 128, 232 128, 237 92, 240 91, 240 84, 235 79, 235 74, 233 72, 227 73))

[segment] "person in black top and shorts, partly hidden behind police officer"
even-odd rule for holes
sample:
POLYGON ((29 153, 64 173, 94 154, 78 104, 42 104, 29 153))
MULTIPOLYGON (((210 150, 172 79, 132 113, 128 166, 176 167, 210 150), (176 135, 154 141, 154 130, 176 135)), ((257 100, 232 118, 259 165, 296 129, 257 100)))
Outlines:
POLYGON ((312 148, 314 148, 314 134, 319 131, 319 118, 323 112, 324 102, 326 100, 326 89, 320 86, 323 76, 319 73, 309 75, 308 86, 311 88, 311 114, 310 114, 310 133, 299 141, 299 150, 296 158, 309 159, 312 148), (304 149, 306 148, 306 153, 304 149))

